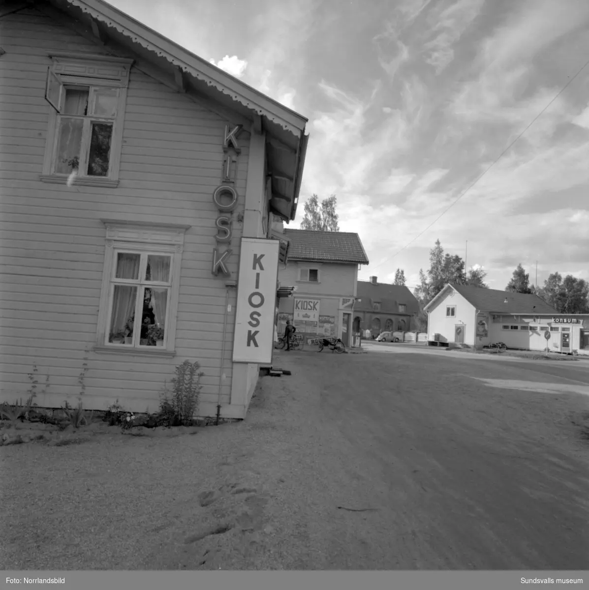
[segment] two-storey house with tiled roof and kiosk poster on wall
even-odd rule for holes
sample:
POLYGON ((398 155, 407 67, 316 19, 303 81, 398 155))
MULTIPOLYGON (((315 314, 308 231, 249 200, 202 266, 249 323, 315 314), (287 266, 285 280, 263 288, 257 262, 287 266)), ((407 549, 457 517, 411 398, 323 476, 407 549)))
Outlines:
POLYGON ((273 237, 287 242, 279 287, 294 288, 292 297, 279 299, 277 333, 290 320, 307 345, 320 336, 341 338, 346 346, 358 343, 352 337, 352 313, 358 268, 368 264, 359 235, 274 228, 273 237))

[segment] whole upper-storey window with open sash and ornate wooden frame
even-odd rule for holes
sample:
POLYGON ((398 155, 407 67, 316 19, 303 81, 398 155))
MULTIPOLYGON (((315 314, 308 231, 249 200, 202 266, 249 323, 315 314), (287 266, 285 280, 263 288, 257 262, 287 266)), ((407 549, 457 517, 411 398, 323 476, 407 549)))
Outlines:
POLYGON ((51 104, 42 180, 116 186, 131 60, 54 54, 45 98, 51 104), (97 74, 99 73, 99 74, 97 74))

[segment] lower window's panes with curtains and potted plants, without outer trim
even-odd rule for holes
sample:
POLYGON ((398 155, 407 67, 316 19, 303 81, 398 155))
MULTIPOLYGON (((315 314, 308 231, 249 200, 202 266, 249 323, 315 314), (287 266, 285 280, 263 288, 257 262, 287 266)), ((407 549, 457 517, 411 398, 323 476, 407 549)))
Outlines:
POLYGON ((173 256, 115 251, 107 343, 166 346, 173 256))

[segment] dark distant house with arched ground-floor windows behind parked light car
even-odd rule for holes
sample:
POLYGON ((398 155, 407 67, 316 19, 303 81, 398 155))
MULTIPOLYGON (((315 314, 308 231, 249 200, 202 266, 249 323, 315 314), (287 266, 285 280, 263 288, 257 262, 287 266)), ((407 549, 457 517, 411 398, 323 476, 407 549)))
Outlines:
POLYGON ((354 332, 370 330, 376 337, 381 332, 415 329, 412 318, 419 303, 407 287, 378 283, 377 277, 358 281, 358 300, 354 306, 354 332))

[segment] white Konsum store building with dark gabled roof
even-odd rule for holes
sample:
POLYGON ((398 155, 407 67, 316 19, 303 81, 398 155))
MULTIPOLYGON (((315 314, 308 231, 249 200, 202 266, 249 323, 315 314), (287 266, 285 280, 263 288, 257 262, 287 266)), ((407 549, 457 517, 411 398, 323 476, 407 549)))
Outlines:
POLYGON ((560 314, 534 294, 447 284, 424 307, 428 343, 589 355, 589 316, 560 314), (547 337, 548 333, 548 337, 547 337))

